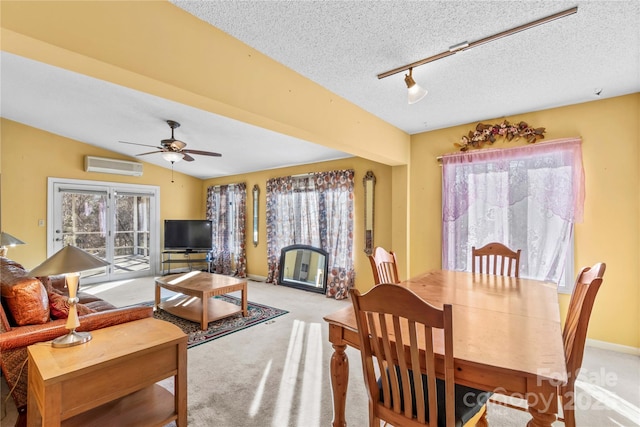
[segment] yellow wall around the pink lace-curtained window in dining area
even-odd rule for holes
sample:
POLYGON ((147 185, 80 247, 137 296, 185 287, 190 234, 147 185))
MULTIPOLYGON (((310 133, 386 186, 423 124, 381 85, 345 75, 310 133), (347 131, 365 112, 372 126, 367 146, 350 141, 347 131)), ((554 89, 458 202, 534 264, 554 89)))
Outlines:
MULTIPOLYGON (((582 137, 584 222, 575 227, 575 268, 606 262, 589 338, 640 347, 640 94, 509 116, 545 127, 545 140, 582 137)), ((499 123, 487 119, 484 123, 499 123)), ((436 157, 475 123, 413 135, 409 182, 411 274, 441 265, 441 170, 436 157)), ((544 140, 543 140, 544 141, 544 140)), ((495 148, 524 142, 502 142, 495 148)), ((568 295, 561 295, 563 317, 568 295)))

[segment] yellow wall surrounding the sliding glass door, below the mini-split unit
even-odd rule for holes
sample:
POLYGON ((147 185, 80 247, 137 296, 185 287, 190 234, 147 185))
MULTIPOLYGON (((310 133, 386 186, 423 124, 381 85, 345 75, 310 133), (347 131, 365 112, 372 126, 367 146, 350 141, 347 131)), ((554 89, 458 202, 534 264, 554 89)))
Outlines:
POLYGON ((0 151, 2 231, 26 242, 9 249, 9 257, 33 268, 47 257, 47 178, 84 179, 160 187, 161 220, 204 218, 202 181, 144 163, 140 177, 84 171, 84 156, 136 160, 92 145, 63 138, 10 120, 1 122, 0 151))

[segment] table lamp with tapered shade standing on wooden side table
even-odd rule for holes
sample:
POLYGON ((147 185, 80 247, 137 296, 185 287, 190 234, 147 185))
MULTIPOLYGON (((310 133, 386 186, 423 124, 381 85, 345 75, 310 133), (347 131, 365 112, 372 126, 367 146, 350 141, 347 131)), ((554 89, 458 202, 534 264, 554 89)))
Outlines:
POLYGON ((69 289, 69 317, 67 317, 66 328, 69 329, 67 335, 58 337, 53 340, 53 347, 71 347, 82 344, 91 339, 89 332, 76 332, 76 328, 80 326, 78 319, 78 310, 76 304, 78 298, 78 281, 80 272, 91 270, 109 265, 108 262, 91 255, 75 246, 65 246, 45 262, 29 272, 32 277, 53 276, 56 274, 64 274, 69 289))

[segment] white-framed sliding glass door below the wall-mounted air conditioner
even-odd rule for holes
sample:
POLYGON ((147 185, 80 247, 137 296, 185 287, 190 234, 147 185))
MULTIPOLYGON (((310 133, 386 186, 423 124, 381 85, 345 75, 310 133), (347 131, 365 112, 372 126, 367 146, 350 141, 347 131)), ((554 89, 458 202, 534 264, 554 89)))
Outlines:
POLYGON ((159 189, 50 178, 48 255, 74 245, 110 263, 84 283, 153 275, 159 259, 159 189))

